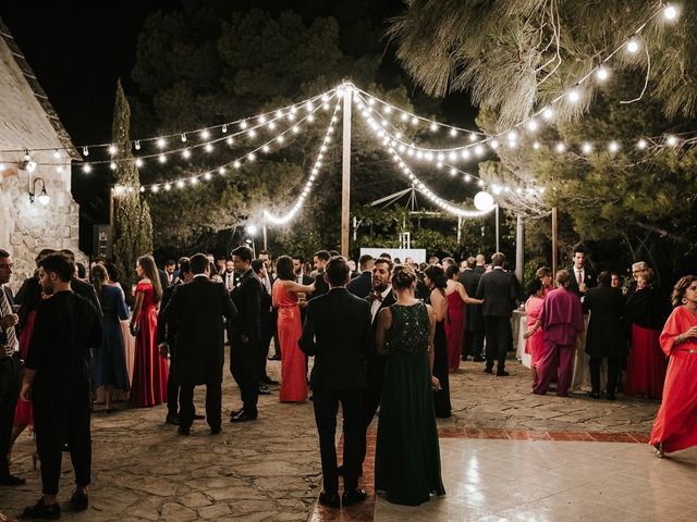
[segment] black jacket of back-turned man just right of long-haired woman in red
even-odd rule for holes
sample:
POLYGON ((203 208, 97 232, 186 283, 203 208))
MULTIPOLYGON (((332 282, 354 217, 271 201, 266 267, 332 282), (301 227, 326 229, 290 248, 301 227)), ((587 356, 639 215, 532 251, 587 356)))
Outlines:
POLYGON ((207 277, 194 277, 174 287, 162 319, 176 327, 174 378, 181 384, 222 383, 223 322, 233 322, 237 310, 225 286, 207 277))

